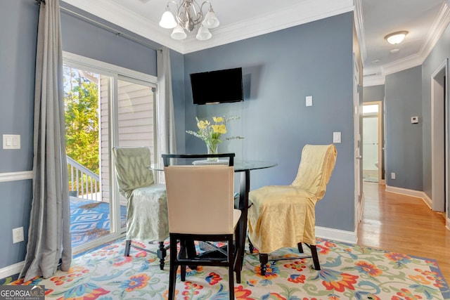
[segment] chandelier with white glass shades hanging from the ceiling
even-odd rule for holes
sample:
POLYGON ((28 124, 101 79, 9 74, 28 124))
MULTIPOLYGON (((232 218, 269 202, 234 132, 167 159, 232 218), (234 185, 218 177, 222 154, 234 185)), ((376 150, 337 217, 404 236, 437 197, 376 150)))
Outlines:
POLYGON ((166 11, 162 14, 160 20, 162 28, 173 29, 170 37, 172 39, 186 39, 187 32, 192 32, 195 27, 198 27, 197 35, 195 36, 200 41, 211 39, 211 28, 219 26, 219 20, 212 10, 210 1, 203 1, 199 5, 195 0, 180 0, 177 5, 175 1, 167 3, 166 11), (176 7, 176 14, 170 11, 169 4, 174 4, 176 7), (203 15, 203 6, 209 5, 206 15, 203 15))

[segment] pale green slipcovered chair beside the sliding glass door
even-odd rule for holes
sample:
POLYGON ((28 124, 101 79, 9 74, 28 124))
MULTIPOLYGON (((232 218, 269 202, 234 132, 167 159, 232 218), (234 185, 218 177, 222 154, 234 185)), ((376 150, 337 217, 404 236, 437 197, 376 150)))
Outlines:
POLYGON ((147 147, 114 147, 115 176, 120 194, 127 199, 127 237, 125 256, 130 247, 157 254, 160 269, 164 268, 169 237, 167 195, 163 184, 155 184, 150 167, 150 149, 147 147), (156 252, 143 249, 131 240, 158 241, 156 252))

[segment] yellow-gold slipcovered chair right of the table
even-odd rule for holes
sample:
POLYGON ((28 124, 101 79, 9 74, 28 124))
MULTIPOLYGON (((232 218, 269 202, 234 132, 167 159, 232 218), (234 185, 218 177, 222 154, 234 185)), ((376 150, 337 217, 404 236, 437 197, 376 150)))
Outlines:
POLYGON ((314 268, 320 270, 316 249, 315 206, 325 195, 336 155, 334 145, 305 145, 293 183, 268 185, 250 192, 250 253, 253 247, 259 250, 262 275, 266 273, 269 253, 284 247, 298 247, 299 252, 303 253, 302 242, 311 249, 311 256, 301 257, 312 258, 314 268))

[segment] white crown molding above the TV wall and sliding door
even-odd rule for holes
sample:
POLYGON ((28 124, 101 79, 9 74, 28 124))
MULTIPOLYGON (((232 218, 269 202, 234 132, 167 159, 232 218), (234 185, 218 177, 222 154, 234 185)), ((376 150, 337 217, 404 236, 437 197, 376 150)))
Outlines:
POLYGON ((198 41, 193 36, 184 41, 176 41, 170 38, 170 30, 165 30, 132 11, 115 6, 108 0, 63 1, 182 54, 256 37, 354 10, 353 0, 305 0, 268 15, 214 29, 213 37, 208 41, 198 41))

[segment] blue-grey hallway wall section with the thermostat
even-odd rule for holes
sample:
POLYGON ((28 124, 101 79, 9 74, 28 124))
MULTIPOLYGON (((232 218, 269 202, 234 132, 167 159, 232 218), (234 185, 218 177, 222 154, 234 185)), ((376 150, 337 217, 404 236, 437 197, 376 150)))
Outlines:
POLYGON ((411 117, 422 119, 421 82, 421 66, 386 77, 386 184, 397 188, 423 189, 423 122, 411 124, 411 117))

